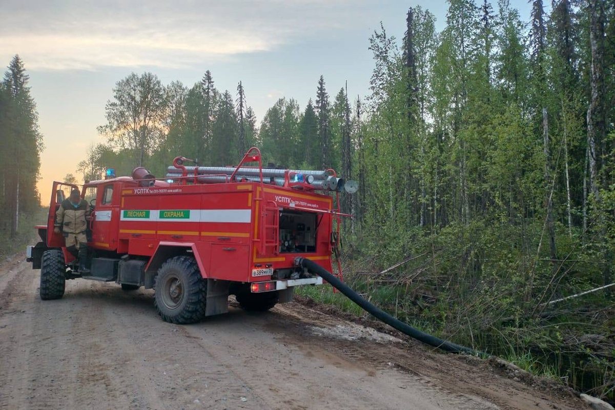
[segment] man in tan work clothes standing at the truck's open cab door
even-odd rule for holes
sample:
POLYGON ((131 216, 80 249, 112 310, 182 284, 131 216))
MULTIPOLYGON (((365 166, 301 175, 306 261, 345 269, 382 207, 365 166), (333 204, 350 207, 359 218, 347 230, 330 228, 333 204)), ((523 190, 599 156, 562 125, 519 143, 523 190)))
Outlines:
POLYGON ((82 199, 78 189, 71 191, 70 197, 63 200, 55 215, 55 234, 62 231, 66 240, 66 250, 79 257, 79 272, 89 274, 87 262, 87 239, 85 230, 90 219, 90 205, 82 199), (78 251, 77 251, 78 250, 78 251))

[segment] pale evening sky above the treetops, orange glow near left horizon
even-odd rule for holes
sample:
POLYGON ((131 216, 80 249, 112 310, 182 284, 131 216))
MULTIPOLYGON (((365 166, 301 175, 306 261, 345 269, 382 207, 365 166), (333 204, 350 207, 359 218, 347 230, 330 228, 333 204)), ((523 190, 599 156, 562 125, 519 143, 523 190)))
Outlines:
MULTIPOLYGON (((510 3, 527 20, 528 2, 510 3)), ((191 87, 209 69, 221 91, 235 95, 242 81, 258 119, 280 97, 303 108, 321 74, 331 96, 347 81, 352 98, 364 97, 369 37, 382 23, 401 39, 416 6, 442 30, 444 0, 0 0, 0 63, 24 61, 44 137, 42 203, 52 181, 79 178, 87 149, 105 142, 96 128, 114 84, 130 73, 191 87)))

